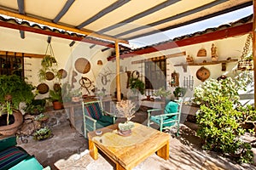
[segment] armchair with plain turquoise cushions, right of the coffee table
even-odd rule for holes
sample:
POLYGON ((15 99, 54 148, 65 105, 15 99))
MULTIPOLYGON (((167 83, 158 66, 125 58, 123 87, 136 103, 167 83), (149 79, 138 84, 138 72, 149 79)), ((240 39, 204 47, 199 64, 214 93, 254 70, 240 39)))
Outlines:
POLYGON ((160 127, 160 131, 162 132, 163 129, 177 127, 177 136, 179 134, 179 122, 182 110, 182 101, 179 100, 177 102, 170 101, 165 110, 162 109, 152 109, 148 110, 148 127, 150 126, 151 122, 154 122, 160 127), (159 115, 151 115, 153 112, 158 111, 160 112, 159 115))

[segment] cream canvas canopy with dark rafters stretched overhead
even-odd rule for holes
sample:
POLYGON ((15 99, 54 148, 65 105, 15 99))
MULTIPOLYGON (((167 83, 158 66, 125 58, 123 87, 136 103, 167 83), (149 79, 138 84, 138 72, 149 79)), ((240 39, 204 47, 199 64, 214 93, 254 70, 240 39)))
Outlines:
POLYGON ((0 2, 0 14, 22 14, 42 20, 45 25, 44 21, 48 21, 88 31, 92 37, 96 33, 102 39, 116 40, 108 39, 114 37, 122 42, 252 4, 252 0, 9 0, 0 2))

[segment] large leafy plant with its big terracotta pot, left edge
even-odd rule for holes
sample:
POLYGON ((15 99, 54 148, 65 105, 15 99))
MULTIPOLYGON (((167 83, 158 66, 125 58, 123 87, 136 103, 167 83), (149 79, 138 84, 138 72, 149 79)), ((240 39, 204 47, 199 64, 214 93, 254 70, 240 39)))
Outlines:
POLYGON ((34 98, 34 88, 16 75, 0 76, 0 87, 0 117, 5 117, 0 133, 11 135, 23 122, 23 116, 19 111, 20 102, 30 103, 34 98))

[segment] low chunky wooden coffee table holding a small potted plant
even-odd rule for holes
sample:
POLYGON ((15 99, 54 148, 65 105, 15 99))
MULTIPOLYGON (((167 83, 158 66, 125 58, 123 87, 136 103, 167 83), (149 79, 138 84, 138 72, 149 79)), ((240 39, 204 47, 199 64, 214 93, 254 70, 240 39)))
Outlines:
POLYGON ((116 169, 131 169, 144 161, 148 156, 157 153, 158 156, 169 159, 170 135, 135 123, 130 136, 121 136, 118 124, 99 129, 101 135, 95 132, 88 133, 90 156, 98 158, 98 149, 108 156, 115 164, 116 169))

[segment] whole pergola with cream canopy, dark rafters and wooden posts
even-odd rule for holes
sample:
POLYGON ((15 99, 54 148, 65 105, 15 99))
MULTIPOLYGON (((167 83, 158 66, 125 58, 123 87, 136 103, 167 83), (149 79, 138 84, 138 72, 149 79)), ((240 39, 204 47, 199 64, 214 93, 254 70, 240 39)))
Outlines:
MULTIPOLYGON (((251 5, 253 5, 253 14, 255 14, 255 3, 256 0, 205 0, 203 2, 200 0, 148 0, 147 3, 140 0, 104 2, 38 0, 37 3, 32 0, 9 0, 0 3, 0 14, 13 17, 18 22, 0 20, 0 26, 20 30, 20 38, 26 38, 26 31, 31 31, 74 41, 89 42, 102 46, 102 48, 115 48, 117 98, 120 100, 120 43, 128 43, 137 37, 189 25, 251 5), (50 29, 47 31, 38 28, 39 26, 27 26, 24 21, 53 27, 64 33, 50 29)), ((252 30, 254 75, 256 75, 255 22, 254 17, 252 30)), ((177 45, 180 44, 177 43, 177 45)), ((162 49, 165 50, 165 48, 162 49)), ((254 77, 254 82, 255 80, 256 77, 254 77)), ((256 94, 254 94, 255 97, 256 94)))

